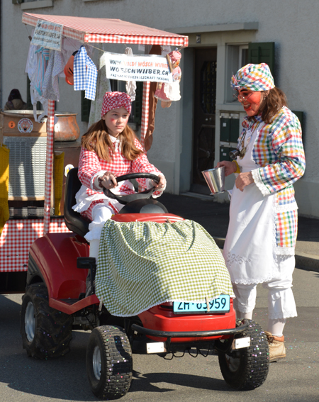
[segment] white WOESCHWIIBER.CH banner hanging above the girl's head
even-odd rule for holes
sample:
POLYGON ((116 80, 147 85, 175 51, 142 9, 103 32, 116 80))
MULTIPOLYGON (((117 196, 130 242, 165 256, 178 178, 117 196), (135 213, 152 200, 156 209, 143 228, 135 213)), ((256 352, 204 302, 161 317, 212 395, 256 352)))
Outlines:
POLYGON ((166 57, 106 52, 106 77, 120 81, 173 82, 166 57))

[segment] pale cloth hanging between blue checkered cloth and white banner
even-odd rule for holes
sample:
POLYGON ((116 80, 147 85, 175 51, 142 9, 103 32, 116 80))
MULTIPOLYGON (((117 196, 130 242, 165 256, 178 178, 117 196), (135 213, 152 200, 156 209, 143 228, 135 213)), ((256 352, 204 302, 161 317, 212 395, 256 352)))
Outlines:
POLYGON ((106 53, 99 51, 101 57, 99 57, 99 72, 96 82, 96 97, 95 101, 91 102, 89 126, 101 120, 101 111, 103 104, 103 97, 106 92, 111 92, 111 83, 106 78, 106 53), (102 53, 102 54, 101 54, 102 53))

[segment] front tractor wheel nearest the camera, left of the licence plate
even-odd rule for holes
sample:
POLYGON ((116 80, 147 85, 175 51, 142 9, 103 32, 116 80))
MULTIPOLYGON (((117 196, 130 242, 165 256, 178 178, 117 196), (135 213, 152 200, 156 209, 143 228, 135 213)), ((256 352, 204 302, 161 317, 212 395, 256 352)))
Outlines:
POLYGON ((124 330, 114 325, 95 328, 86 350, 86 372, 94 395, 121 398, 130 389, 132 371, 132 350, 124 330))

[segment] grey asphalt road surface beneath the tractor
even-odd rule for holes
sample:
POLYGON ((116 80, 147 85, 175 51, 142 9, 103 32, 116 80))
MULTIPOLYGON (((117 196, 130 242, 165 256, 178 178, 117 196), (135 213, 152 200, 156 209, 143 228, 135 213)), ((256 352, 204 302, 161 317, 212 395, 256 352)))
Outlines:
MULTIPOLYGON (((233 391, 223 381, 217 356, 165 360, 133 355, 133 383, 121 401, 135 402, 318 402, 319 274, 296 269, 293 291, 298 318, 285 328, 286 360, 272 363, 254 391, 233 391)), ((258 289, 254 319, 267 323, 267 294, 258 289)), ((89 333, 74 331, 71 352, 55 360, 27 357, 20 335, 21 295, 0 296, 0 401, 96 401, 86 379, 89 333)))

